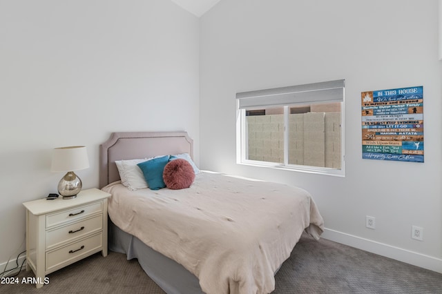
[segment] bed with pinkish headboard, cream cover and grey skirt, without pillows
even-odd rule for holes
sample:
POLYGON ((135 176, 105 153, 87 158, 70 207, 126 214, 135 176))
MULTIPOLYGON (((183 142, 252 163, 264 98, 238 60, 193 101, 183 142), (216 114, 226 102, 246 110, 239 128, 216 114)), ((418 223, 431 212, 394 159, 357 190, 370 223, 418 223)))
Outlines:
POLYGON ((115 161, 193 158, 185 132, 113 133, 100 145, 109 249, 137 258, 166 293, 270 293, 303 231, 318 239, 323 218, 297 187, 195 170, 189 188, 122 185, 115 161))

